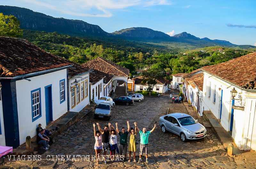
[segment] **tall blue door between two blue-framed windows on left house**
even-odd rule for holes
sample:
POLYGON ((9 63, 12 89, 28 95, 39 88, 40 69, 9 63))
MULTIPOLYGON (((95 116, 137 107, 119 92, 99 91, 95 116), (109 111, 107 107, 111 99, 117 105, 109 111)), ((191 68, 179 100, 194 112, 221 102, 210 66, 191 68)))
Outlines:
POLYGON ((52 121, 52 85, 44 87, 45 89, 45 115, 46 125, 52 121))

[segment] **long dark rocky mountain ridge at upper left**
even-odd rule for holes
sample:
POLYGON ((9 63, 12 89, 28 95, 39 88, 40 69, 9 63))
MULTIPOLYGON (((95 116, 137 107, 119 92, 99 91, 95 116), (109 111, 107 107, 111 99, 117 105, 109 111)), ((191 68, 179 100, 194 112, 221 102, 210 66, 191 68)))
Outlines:
POLYGON ((23 29, 63 34, 111 36, 111 34, 103 31, 98 25, 88 24, 81 20, 53 18, 26 8, 0 5, 0 12, 4 15, 14 15, 20 20, 20 27, 23 29))

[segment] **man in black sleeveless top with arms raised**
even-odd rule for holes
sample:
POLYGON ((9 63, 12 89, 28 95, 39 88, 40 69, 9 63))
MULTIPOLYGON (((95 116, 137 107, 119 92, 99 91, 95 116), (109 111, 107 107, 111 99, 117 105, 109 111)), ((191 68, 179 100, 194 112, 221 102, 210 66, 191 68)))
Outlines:
POLYGON ((114 130, 115 128, 111 125, 111 123, 108 123, 108 126, 104 127, 104 130, 102 130, 100 128, 100 124, 96 123, 98 125, 98 128, 102 134, 102 149, 103 149, 103 157, 105 159, 104 163, 107 164, 107 160, 106 160, 106 154, 108 151, 108 145, 109 145, 109 130, 108 128, 112 128, 112 130, 114 130))

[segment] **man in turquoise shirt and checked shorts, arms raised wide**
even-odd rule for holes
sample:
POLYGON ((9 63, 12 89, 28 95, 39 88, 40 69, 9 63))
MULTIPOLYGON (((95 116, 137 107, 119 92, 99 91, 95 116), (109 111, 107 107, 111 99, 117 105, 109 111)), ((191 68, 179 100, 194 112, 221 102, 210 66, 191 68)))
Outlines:
POLYGON ((141 156, 142 156, 143 150, 145 149, 146 163, 148 163, 148 135, 155 130, 156 123, 154 125, 154 128, 150 131, 147 131, 146 128, 143 128, 141 131, 137 126, 137 122, 135 124, 135 128, 136 127, 138 132, 140 133, 140 159, 138 162, 141 163, 141 156))

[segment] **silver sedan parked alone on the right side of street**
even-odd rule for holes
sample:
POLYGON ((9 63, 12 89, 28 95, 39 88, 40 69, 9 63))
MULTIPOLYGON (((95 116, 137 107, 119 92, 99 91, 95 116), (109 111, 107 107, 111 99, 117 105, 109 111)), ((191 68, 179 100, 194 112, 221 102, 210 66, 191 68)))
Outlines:
POLYGON ((185 142, 187 139, 195 140, 206 136, 205 127, 198 123, 193 117, 185 113, 171 113, 159 118, 162 131, 170 131, 185 142))

